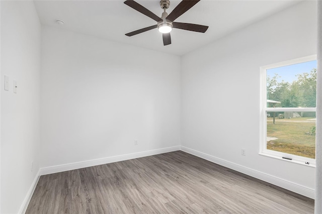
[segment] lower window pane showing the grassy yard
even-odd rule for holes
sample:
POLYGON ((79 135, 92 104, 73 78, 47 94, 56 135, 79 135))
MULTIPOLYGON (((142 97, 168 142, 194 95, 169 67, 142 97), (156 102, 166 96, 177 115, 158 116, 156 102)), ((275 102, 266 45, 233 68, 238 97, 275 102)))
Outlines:
POLYGON ((315 112, 267 112, 267 149, 315 159, 315 112))

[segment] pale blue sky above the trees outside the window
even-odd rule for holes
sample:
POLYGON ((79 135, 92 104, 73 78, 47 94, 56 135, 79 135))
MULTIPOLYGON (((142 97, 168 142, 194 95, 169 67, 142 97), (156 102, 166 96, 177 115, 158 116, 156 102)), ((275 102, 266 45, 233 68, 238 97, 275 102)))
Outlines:
POLYGON ((284 82, 292 83, 294 80, 297 80, 297 76, 295 76, 296 74, 310 73, 313 68, 316 68, 316 60, 271 68, 267 69, 266 72, 270 78, 272 78, 275 73, 278 73, 278 75, 281 76, 281 78, 278 78, 279 82, 284 80, 284 82))

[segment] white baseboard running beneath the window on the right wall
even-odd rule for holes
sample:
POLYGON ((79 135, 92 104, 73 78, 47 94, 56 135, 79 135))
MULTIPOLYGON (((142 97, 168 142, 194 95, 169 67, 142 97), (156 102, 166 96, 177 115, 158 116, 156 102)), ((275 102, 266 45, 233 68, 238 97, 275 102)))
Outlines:
POLYGON ((258 178, 260 180, 266 181, 268 183, 274 184, 276 186, 282 187, 284 189, 288 189, 290 191, 296 192, 298 194, 304 195, 306 197, 315 198, 315 190, 282 178, 275 177, 273 175, 269 175, 245 166, 241 166, 220 158, 216 158, 214 156, 181 146, 181 150, 187 152, 189 154, 195 155, 202 159, 211 161, 213 163, 219 164, 221 166, 227 167, 229 169, 233 169, 235 171, 244 173, 246 175, 250 175, 252 177, 258 178))

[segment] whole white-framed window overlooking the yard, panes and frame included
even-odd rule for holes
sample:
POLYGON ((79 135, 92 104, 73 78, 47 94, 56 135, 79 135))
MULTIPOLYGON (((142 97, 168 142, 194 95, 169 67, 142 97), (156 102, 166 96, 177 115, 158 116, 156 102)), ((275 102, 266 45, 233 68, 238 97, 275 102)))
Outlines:
POLYGON ((261 67, 260 154, 315 165, 316 56, 261 67))

